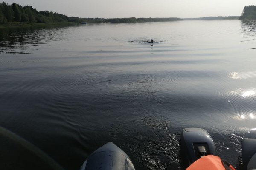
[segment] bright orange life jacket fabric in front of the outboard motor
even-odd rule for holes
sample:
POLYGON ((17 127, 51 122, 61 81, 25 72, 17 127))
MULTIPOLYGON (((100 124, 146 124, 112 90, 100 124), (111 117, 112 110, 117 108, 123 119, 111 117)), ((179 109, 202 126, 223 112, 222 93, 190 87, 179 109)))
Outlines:
POLYGON ((235 168, 218 156, 207 155, 195 161, 186 170, 235 170, 235 168))

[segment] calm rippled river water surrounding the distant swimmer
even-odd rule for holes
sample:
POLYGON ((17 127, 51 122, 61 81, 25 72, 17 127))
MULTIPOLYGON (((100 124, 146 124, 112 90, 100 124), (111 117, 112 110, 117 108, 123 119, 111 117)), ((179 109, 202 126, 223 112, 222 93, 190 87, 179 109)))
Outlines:
POLYGON ((0 125, 67 170, 108 141, 137 170, 180 169, 180 132, 200 127, 236 167, 256 138, 255 54, 239 20, 1 29, 0 125))

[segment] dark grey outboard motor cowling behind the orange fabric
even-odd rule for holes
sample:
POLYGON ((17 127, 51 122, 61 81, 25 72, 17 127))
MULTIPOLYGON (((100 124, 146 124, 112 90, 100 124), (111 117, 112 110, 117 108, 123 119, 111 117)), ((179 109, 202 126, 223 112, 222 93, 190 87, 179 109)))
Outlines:
POLYGON ((207 131, 185 128, 180 135, 180 166, 186 169, 202 156, 216 155, 215 144, 207 131))

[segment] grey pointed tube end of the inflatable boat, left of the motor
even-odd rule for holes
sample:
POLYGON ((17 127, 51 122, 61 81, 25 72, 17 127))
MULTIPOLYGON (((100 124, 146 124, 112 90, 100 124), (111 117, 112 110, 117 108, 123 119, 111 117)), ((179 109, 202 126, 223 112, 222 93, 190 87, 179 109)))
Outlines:
POLYGON ((129 156, 112 142, 95 150, 80 170, 135 170, 129 156))

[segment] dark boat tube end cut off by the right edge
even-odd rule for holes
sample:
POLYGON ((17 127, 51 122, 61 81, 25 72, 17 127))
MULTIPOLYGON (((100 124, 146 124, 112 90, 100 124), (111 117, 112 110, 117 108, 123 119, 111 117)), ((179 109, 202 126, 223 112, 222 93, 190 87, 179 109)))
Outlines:
POLYGON ((244 138, 242 140, 242 170, 256 169, 256 139, 244 138))

